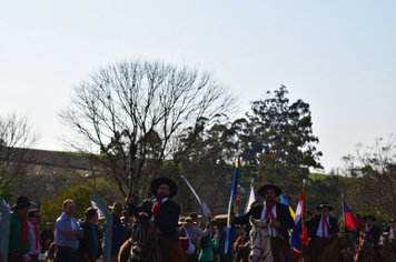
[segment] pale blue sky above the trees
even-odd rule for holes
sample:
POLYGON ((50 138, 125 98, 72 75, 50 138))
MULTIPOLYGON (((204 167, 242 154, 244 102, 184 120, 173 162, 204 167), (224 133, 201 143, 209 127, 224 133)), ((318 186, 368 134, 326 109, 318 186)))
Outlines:
POLYGON ((310 104, 325 171, 396 133, 396 1, 1 1, 1 115, 60 150, 72 84, 128 58, 212 71, 249 102, 285 84, 310 104))

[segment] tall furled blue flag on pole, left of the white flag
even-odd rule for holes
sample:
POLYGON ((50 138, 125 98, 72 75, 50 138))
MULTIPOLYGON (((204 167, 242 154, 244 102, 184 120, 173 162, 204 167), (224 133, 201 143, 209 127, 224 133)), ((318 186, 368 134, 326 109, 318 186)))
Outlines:
POLYGON ((235 242, 235 224, 232 224, 232 218, 237 213, 237 193, 238 193, 238 181, 239 181, 239 158, 235 165, 235 173, 232 180, 231 194, 228 204, 228 219, 226 228, 226 241, 225 241, 225 253, 228 258, 232 258, 232 244, 235 242))

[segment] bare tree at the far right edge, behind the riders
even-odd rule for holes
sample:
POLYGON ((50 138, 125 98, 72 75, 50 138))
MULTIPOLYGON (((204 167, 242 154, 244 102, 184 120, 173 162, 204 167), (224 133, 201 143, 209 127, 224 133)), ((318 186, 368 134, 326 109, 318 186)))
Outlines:
POLYGON ((386 219, 396 213, 396 145, 395 135, 379 138, 374 147, 357 145, 356 157, 344 158, 353 187, 352 204, 365 212, 379 212, 386 219), (385 144, 384 144, 385 142, 385 144))

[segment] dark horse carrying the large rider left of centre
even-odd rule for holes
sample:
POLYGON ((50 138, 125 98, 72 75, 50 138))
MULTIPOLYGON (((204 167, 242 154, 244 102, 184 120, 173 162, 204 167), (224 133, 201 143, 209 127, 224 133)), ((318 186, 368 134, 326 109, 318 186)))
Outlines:
POLYGON ((120 262, 185 262, 181 242, 174 243, 162 234, 157 233, 154 221, 147 214, 139 213, 139 221, 133 225, 132 236, 120 249, 120 262), (129 250, 129 254, 128 254, 129 250))

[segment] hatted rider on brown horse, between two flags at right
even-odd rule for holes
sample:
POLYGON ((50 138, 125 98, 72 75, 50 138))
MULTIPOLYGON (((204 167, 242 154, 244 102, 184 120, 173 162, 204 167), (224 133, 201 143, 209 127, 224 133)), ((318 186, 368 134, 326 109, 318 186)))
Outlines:
POLYGON ((309 221, 305 223, 308 231, 309 244, 304 251, 306 254, 311 254, 313 260, 321 252, 327 241, 339 232, 337 220, 330 215, 333 206, 327 202, 321 202, 316 210, 320 213, 315 214, 309 221), (313 253, 313 251, 315 252, 313 253))

